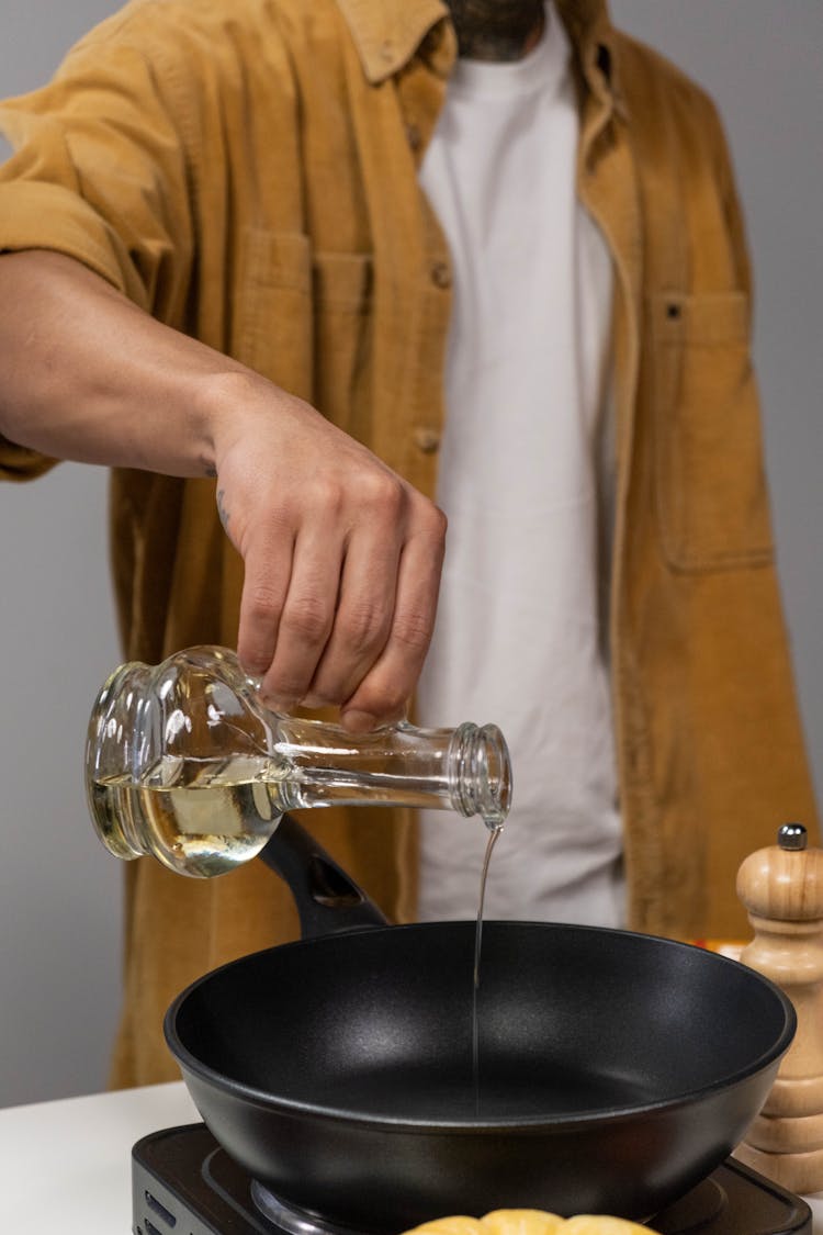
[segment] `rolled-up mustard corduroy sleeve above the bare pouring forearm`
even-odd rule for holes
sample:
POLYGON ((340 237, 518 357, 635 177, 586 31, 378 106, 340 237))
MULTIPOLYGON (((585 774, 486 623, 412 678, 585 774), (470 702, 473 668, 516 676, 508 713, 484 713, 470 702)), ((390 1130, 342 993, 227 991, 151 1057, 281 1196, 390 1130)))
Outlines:
MULTIPOLYGON (((153 6, 155 7, 155 6, 153 6)), ((185 72, 168 40, 116 15, 52 82, 0 104, 0 252, 47 248, 162 320, 180 319, 192 251, 185 72)), ((53 461, 0 437, 0 478, 53 461)))

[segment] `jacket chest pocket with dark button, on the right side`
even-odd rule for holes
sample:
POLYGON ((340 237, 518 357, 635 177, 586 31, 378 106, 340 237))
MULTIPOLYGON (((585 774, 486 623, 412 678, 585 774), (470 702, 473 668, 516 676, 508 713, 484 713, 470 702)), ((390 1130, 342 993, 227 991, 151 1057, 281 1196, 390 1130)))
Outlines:
POLYGON ((655 492, 663 548, 680 571, 772 556, 749 310, 742 293, 649 300, 655 492))

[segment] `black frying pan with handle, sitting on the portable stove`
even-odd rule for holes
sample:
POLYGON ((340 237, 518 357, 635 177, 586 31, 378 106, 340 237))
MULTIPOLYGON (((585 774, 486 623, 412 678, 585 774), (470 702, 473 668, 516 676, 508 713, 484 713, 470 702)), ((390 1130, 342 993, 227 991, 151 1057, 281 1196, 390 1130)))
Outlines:
POLYGON ((379 911, 287 818, 264 853, 304 936, 336 932, 206 974, 165 1034, 228 1153, 327 1221, 649 1218, 738 1144, 793 1035, 786 997, 714 953, 490 921, 475 1086, 474 924, 375 927, 379 911))

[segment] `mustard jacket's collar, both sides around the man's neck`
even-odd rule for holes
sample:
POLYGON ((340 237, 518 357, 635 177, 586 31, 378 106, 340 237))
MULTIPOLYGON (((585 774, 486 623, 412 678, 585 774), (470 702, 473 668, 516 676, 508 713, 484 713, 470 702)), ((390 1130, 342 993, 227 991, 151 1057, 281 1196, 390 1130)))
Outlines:
MULTIPOLYGON (((337 0, 337 4, 373 85, 399 73, 429 31, 440 23, 443 37, 433 41, 427 58, 438 74, 448 77, 457 41, 443 0, 337 0)), ((613 28, 606 0, 555 0, 555 6, 589 88, 598 96, 617 100, 613 28)))

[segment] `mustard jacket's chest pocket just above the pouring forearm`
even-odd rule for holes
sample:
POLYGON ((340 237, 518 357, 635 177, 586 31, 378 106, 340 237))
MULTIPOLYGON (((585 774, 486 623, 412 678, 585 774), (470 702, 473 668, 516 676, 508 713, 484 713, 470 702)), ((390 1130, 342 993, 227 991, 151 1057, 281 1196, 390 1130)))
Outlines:
POLYGON ((348 429, 370 352, 368 253, 315 252, 301 232, 244 232, 232 350, 348 429))

